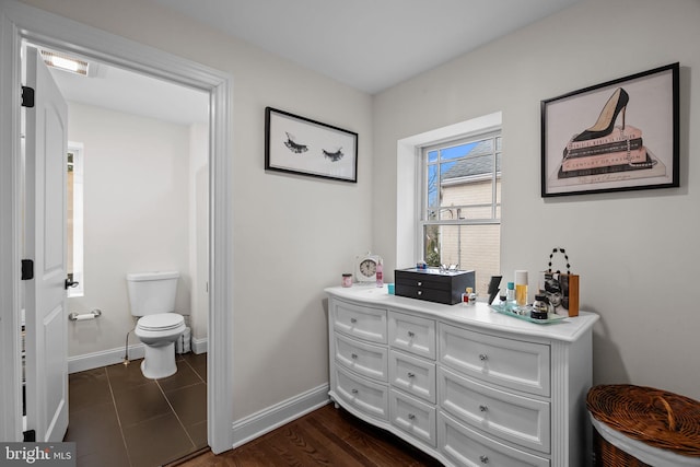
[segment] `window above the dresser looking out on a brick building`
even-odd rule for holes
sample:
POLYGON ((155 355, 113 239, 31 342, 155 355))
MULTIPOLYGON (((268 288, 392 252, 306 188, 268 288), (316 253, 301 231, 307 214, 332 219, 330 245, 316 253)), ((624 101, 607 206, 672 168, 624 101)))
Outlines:
POLYGON ((474 269, 481 295, 500 275, 501 153, 500 130, 421 149, 423 260, 474 269))

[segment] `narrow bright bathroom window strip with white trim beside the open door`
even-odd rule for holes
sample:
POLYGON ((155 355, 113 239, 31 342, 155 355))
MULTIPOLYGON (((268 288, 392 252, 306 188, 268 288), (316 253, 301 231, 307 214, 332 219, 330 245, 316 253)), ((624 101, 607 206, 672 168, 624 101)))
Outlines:
POLYGON ((83 296, 85 293, 84 280, 84 147, 81 142, 68 141, 68 151, 73 153, 73 281, 78 281, 74 288, 68 288, 68 297, 83 296))

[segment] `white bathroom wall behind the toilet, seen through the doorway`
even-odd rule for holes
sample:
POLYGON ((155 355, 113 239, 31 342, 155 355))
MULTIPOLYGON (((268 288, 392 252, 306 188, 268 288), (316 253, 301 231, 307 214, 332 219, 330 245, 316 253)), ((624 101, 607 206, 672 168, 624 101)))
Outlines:
MULTIPOLYGON (((84 145, 84 291, 70 312, 69 357, 122 348, 133 329, 126 275, 180 272, 176 310, 190 314, 189 128, 69 103, 69 140, 84 145)), ((138 342, 133 335, 130 343, 138 342)))

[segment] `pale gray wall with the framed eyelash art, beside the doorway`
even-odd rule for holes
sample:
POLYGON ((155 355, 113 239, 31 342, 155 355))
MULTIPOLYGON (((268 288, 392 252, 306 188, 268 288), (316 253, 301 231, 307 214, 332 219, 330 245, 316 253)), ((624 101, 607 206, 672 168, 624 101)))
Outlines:
POLYGON ((27 3, 233 77, 234 418, 326 384, 323 289, 372 248, 371 96, 148 1, 27 3), (358 184, 267 174, 266 106, 358 132, 358 184))

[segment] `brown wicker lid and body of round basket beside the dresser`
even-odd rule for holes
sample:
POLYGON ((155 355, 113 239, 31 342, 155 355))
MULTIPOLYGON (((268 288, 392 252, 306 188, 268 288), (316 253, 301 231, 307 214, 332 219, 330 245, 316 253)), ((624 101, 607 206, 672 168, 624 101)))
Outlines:
MULTIPOLYGON (((591 415, 609 428, 646 445, 700 458, 700 402, 651 387, 600 385, 586 398, 591 415)), ((645 466, 596 434, 604 466, 645 466)))

